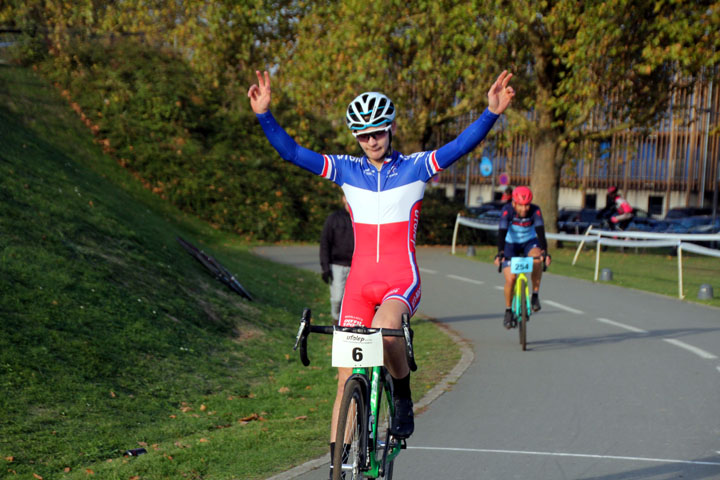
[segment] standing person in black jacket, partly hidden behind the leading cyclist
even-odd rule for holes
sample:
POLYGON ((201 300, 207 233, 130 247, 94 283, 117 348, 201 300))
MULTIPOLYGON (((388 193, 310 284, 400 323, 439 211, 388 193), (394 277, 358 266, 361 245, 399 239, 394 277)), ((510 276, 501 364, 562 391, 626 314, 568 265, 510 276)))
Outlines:
POLYGON ((350 273, 355 239, 347 199, 343 196, 342 210, 337 210, 325 220, 320 238, 320 266, 322 278, 330 285, 330 314, 337 325, 340 306, 345 293, 345 280, 350 273))

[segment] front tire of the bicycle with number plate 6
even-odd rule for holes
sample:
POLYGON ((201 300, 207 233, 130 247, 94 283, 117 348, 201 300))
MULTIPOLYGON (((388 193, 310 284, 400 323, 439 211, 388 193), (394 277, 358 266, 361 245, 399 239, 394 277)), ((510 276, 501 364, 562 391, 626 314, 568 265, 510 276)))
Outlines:
POLYGON ((356 379, 350 379, 345 384, 338 425, 335 434, 335 452, 333 454, 333 480, 359 480, 363 478, 360 468, 363 466, 363 451, 367 438, 367 424, 365 422, 365 394, 363 385, 356 379), (350 445, 346 466, 343 470, 343 444, 350 445), (342 474, 345 473, 343 477, 342 474))

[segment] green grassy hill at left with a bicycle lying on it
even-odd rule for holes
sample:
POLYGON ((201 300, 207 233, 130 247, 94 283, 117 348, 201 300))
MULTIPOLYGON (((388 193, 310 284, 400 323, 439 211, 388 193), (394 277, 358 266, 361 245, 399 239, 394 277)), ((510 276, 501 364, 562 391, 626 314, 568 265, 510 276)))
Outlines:
MULTIPOLYGON (((325 452, 329 343, 311 368, 290 348, 302 308, 327 311, 316 275, 161 202, 58 92, 3 65, 0 177, 0 477, 264 478, 325 452)), ((435 329, 416 322, 434 365, 418 395, 458 356, 435 329)))

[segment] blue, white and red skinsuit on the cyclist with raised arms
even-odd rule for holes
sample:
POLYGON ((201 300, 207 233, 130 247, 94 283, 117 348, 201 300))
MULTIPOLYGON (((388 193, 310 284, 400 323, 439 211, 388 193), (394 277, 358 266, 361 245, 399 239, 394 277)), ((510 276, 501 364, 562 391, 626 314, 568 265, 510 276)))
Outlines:
POLYGON ((425 185, 471 151, 498 115, 486 110, 457 139, 438 150, 394 151, 378 170, 367 157, 321 155, 299 146, 268 112, 257 116, 280 156, 338 184, 350 207, 355 251, 345 286, 340 324, 370 326, 375 307, 388 299, 413 314, 420 303, 415 237, 425 185))

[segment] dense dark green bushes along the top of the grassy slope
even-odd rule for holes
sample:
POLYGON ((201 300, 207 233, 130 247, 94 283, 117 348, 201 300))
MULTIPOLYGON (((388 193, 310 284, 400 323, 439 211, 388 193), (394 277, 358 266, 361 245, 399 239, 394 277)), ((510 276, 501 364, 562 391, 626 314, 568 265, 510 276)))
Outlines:
MULTIPOLYGON (((226 95, 182 58, 137 40, 70 48, 70 63, 50 59, 45 74, 146 188, 248 240, 319 238, 340 196, 329 182, 283 162, 249 109, 228 107, 226 95)), ((289 129, 301 121, 292 105, 275 114, 289 129)))

